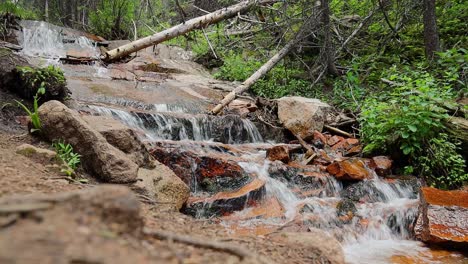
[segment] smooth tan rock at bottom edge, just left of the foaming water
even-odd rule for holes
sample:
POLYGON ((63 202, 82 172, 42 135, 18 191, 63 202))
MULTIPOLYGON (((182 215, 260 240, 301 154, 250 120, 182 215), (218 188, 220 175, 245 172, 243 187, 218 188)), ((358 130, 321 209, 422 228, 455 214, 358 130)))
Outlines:
POLYGON ((322 230, 311 228, 309 232, 280 232, 268 236, 272 241, 287 247, 304 247, 304 263, 344 264, 344 253, 340 243, 322 230))

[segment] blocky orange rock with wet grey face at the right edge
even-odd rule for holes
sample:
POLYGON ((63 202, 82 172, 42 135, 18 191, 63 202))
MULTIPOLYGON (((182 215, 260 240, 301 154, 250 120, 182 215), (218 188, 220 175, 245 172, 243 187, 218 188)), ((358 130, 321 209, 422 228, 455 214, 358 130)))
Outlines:
POLYGON ((468 192, 422 188, 416 237, 429 244, 468 249, 468 192))

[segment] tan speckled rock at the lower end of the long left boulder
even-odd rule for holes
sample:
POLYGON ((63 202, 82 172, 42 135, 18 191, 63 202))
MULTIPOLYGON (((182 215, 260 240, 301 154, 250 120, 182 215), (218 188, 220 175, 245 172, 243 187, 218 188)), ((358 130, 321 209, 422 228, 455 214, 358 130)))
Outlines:
POLYGON ((176 209, 182 208, 190 196, 190 188, 163 164, 155 168, 138 170, 138 181, 135 187, 154 198, 161 207, 176 209))

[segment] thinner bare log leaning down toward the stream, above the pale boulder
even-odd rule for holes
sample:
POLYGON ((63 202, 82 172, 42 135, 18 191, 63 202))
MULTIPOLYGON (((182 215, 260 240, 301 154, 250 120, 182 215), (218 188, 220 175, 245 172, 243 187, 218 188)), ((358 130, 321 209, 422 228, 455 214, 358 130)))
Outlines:
POLYGON ((241 94, 245 91, 247 91, 250 87, 252 87, 258 80, 260 80, 265 74, 267 74, 275 65, 281 61, 284 56, 286 56, 289 51, 299 42, 302 40, 303 33, 307 26, 309 25, 310 22, 309 18, 299 29, 298 33, 296 36, 289 41, 286 46, 284 46, 278 53, 276 53, 273 57, 270 58, 267 63, 263 64, 260 69, 258 69, 254 74, 252 74, 247 80, 245 80, 241 85, 236 87, 232 92, 228 93, 221 102, 215 106, 212 110, 212 114, 218 114, 221 112, 221 110, 228 105, 230 102, 234 101, 236 99, 238 94, 241 94))

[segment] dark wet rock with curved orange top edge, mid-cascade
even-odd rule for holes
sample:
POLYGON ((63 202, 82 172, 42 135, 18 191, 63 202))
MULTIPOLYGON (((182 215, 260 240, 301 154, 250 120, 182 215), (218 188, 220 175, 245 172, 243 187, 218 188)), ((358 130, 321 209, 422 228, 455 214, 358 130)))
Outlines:
POLYGON ((233 192, 221 192, 209 198, 190 198, 182 212, 194 217, 228 215, 253 206, 265 196, 265 182, 254 179, 233 192))

